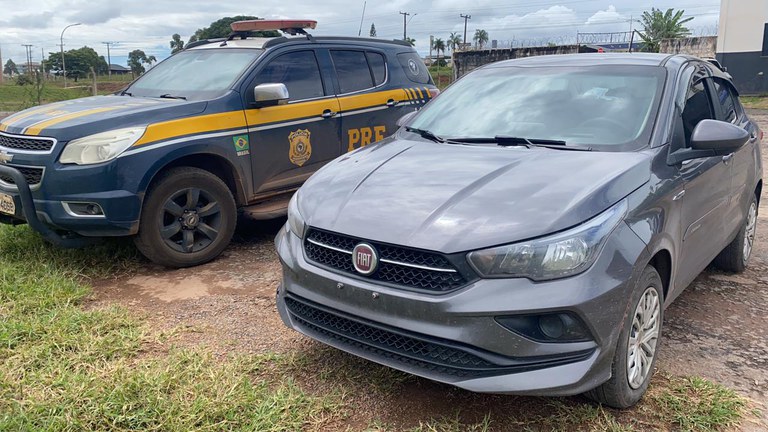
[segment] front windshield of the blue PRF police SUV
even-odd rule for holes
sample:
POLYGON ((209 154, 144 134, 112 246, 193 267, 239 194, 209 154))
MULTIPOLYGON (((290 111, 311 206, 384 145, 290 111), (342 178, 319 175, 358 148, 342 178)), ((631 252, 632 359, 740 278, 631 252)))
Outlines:
POLYGON ((264 50, 193 49, 162 61, 125 90, 141 97, 206 100, 224 94, 264 50))

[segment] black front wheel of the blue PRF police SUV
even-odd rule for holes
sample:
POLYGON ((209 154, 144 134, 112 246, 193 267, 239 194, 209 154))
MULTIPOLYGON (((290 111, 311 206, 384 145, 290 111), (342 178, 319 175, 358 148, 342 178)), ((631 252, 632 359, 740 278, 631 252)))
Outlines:
POLYGON ((192 267, 219 256, 236 224, 235 199, 220 178, 198 168, 173 168, 150 188, 134 243, 152 262, 192 267))

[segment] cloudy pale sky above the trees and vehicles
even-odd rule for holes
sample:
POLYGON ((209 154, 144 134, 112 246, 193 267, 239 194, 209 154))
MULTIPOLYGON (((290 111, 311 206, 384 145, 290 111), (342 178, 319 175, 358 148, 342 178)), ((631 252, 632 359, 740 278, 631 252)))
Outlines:
POLYGON ((416 49, 429 53, 430 35, 446 39, 451 32, 471 42, 476 29, 484 29, 500 46, 573 42, 577 32, 618 32, 635 27, 642 12, 656 8, 684 9, 694 17, 688 27, 696 35, 716 34, 719 0, 0 0, 0 49, 3 62, 26 60, 22 44, 31 44, 32 60, 42 53, 59 50, 61 32, 69 24, 81 23, 64 33, 64 48, 94 48, 112 63, 125 65, 128 52, 141 49, 158 59, 170 55, 171 35, 184 40, 198 28, 234 15, 267 19, 315 19, 318 36, 367 36, 375 24, 377 37, 402 39, 403 15, 408 36, 416 49), (363 9, 365 13, 363 14, 363 9), (42 52, 42 53, 41 53, 42 52))

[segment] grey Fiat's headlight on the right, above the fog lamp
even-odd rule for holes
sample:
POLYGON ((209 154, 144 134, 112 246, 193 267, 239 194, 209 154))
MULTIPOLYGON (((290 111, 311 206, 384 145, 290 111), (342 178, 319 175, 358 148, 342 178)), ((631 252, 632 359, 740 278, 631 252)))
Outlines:
POLYGON ((471 252, 469 262, 482 277, 525 277, 534 281, 564 278, 587 270, 608 235, 624 219, 626 200, 562 233, 471 252))

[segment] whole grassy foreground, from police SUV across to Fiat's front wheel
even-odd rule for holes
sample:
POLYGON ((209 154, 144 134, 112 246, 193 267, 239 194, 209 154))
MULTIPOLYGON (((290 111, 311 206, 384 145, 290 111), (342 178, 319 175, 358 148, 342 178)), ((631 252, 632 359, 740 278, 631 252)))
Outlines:
POLYGON ((175 331, 87 304, 89 280, 143 263, 129 241, 64 250, 0 226, 0 431, 707 432, 751 415, 735 392, 700 378, 657 374, 641 404, 616 411, 463 392, 320 344, 225 357, 179 349, 175 331), (396 412, 403 400, 416 404, 409 418, 396 412), (389 410, 387 421, 373 414, 389 410))

